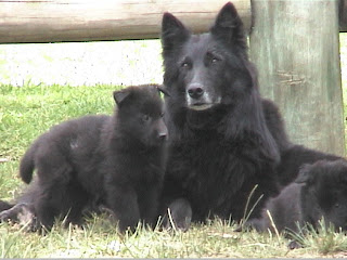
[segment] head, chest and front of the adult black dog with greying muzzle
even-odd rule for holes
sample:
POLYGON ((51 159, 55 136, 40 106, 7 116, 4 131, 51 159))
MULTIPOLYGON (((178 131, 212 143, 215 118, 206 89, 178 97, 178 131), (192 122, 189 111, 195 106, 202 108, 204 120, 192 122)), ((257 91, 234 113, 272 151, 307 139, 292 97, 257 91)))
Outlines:
POLYGON ((170 141, 163 209, 183 198, 195 221, 208 216, 240 220, 264 196, 250 214, 259 217, 265 200, 279 192, 280 148, 267 126, 235 8, 226 4, 205 35, 192 35, 165 13, 162 43, 170 93, 165 98, 170 141))

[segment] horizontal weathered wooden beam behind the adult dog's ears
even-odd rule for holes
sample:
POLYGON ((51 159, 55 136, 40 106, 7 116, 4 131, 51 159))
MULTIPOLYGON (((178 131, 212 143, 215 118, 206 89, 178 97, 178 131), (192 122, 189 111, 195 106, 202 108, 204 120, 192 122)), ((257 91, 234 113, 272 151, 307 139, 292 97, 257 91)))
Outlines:
MULTIPOLYGON (((0 43, 158 38, 163 13, 206 31, 226 0, 2 0, 0 43)), ((250 1, 234 0, 245 27, 250 1)))

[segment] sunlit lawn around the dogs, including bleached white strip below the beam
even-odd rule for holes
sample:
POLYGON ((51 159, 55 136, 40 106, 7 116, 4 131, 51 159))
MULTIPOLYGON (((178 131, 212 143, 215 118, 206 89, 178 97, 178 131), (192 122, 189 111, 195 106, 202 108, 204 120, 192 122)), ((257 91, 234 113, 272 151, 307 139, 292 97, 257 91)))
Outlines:
MULTIPOLYGON (((340 42, 347 104, 346 35, 342 35, 340 42)), ((0 46, 0 197, 3 199, 12 199, 23 188, 17 178, 18 159, 38 134, 67 118, 111 114, 112 92, 121 86, 162 82, 158 41, 57 46, 0 46)), ((57 223, 42 236, 1 223, 0 257, 347 257, 347 237, 343 233, 310 232, 301 237, 304 248, 288 250, 288 239, 282 235, 234 232, 234 229, 233 223, 216 219, 205 225, 194 224, 187 233, 139 226, 136 234, 119 236, 112 221, 93 217, 83 227, 64 229, 57 223)))

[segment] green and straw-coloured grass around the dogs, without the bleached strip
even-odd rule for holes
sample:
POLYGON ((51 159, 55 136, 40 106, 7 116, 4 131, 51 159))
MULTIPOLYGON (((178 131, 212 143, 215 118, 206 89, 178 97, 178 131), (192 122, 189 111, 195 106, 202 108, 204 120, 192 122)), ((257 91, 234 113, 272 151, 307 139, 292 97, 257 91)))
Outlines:
MULTIPOLYGON (((347 37, 342 36, 345 110, 347 110, 347 37)), ((136 50, 142 48, 140 43, 136 50)), ((155 43, 156 44, 156 43, 155 43)), ((1 50, 0 50, 1 53, 1 50)), ((49 56, 43 57, 51 62, 49 56)), ((130 62, 129 62, 130 63, 130 62)), ((1 63, 0 63, 1 65, 1 63)), ((131 67, 137 66, 131 63, 131 67)), ((128 74, 127 74, 128 75, 128 74)), ((111 114, 112 92, 119 87, 0 86, 0 198, 12 199, 23 188, 18 159, 30 142, 51 126, 87 114, 111 114)), ((90 218, 83 227, 59 222, 47 235, 0 223, 1 258, 134 257, 134 258, 308 258, 346 257, 347 236, 329 229, 300 236, 304 248, 288 250, 282 235, 234 232, 235 225, 214 220, 189 232, 149 231, 120 236, 106 217, 90 218)))

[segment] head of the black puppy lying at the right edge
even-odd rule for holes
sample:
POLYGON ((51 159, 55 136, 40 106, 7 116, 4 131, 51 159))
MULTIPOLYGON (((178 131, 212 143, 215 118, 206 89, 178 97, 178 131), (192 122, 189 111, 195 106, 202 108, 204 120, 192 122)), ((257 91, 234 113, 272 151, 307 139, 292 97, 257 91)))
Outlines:
POLYGON ((304 183, 301 207, 304 220, 347 230, 347 161, 319 160, 305 165, 296 180, 304 183))

